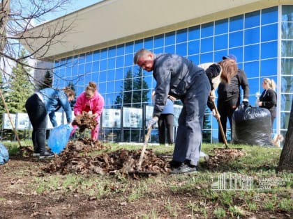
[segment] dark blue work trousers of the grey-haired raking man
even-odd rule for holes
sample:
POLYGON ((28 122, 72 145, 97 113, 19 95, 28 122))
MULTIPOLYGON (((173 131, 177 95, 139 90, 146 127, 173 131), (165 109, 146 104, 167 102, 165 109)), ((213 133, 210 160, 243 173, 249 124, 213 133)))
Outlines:
POLYGON ((200 74, 196 79, 196 83, 181 99, 183 108, 178 118, 179 125, 173 153, 173 161, 182 163, 188 160, 191 165, 197 165, 200 161, 204 111, 211 90, 206 74, 200 74))

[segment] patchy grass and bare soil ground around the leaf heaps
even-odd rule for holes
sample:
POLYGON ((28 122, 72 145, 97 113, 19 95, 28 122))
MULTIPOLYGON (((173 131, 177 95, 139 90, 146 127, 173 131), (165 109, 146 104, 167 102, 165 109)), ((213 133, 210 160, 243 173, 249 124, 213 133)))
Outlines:
MULTIPOLYGON (((119 174, 50 174, 42 170, 50 161, 17 155, 16 143, 3 145, 11 156, 0 165, 0 218, 293 217, 293 175, 276 172, 279 148, 230 145, 241 148, 243 156, 214 166, 201 159, 193 175, 133 179, 119 174)), ((142 145, 107 147, 114 152, 142 145)), ((213 149, 220 147, 204 144, 202 151, 213 159, 213 149)), ((158 156, 172 156, 173 147, 148 148, 158 156)))

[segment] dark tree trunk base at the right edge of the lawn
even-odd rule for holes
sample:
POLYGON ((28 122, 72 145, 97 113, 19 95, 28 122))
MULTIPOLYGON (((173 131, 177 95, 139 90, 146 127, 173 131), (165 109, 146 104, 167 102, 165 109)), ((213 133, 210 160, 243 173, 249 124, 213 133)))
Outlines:
POLYGON ((293 172, 293 102, 284 147, 280 154, 279 171, 293 172))

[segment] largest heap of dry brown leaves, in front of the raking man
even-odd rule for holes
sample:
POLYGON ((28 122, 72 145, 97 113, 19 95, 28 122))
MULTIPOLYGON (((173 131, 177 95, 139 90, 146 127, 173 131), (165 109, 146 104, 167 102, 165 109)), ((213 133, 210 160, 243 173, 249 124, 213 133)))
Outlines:
MULTIPOLYGON (((128 175, 137 168, 140 159, 140 150, 119 149, 114 152, 103 152, 102 154, 88 155, 87 152, 97 150, 107 150, 105 145, 90 139, 79 139, 70 141, 66 149, 60 155, 56 155, 52 161, 46 165, 45 172, 58 172, 61 175, 68 173, 99 175, 117 174, 128 175)), ((167 173, 168 162, 153 153, 151 149, 144 154, 141 172, 167 173)))

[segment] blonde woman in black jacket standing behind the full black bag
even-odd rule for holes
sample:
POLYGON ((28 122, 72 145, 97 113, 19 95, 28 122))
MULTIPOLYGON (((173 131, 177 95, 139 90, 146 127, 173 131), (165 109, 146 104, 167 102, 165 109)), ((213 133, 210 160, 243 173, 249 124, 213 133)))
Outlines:
POLYGON ((271 129, 273 130, 273 122, 276 119, 277 94, 276 83, 273 79, 264 78, 262 80, 262 88, 264 91, 260 95, 258 106, 267 108, 271 113, 271 129))

